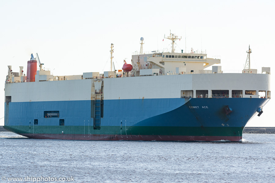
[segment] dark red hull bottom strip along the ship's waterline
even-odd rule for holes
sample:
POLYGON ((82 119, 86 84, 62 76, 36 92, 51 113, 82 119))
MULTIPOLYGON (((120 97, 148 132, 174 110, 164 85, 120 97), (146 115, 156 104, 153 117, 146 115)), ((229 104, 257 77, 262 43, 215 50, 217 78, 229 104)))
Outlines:
POLYGON ((234 141, 242 136, 183 136, 183 135, 80 135, 80 134, 20 134, 28 138, 63 140, 134 140, 134 141, 234 141))

